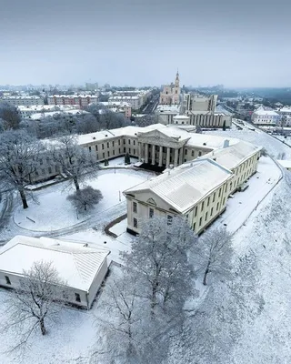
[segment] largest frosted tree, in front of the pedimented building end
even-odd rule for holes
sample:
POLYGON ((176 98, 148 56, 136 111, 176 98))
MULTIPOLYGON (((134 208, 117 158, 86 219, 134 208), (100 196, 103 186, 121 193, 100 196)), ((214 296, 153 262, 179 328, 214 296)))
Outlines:
POLYGON ((143 281, 141 295, 146 297, 152 314, 181 312, 191 294, 192 268, 187 253, 196 236, 181 217, 152 217, 142 224, 131 252, 122 253, 125 267, 143 281))

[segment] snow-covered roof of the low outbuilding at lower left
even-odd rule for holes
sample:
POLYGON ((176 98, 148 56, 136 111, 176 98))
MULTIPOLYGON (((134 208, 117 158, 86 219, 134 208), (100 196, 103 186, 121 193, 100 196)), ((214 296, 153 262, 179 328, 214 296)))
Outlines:
POLYGON ((35 261, 51 262, 66 286, 88 291, 108 250, 54 238, 16 236, 0 250, 0 270, 18 276, 35 261))

